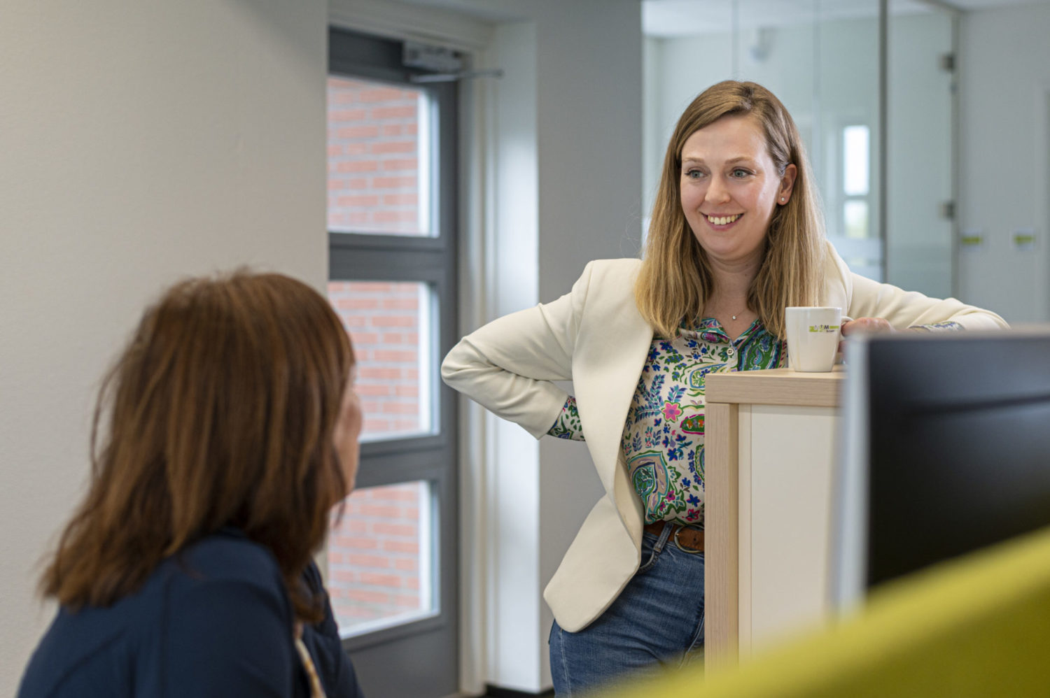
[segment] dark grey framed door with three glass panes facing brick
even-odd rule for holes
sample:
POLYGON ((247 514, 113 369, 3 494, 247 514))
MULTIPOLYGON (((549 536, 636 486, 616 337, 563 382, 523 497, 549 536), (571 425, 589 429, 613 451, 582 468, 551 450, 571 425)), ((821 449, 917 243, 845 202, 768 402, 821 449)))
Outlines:
POLYGON ((357 356, 357 489, 328 586, 368 695, 458 684, 455 82, 414 83, 401 42, 330 31, 329 299, 357 356), (405 656, 414 657, 405 672, 405 656))

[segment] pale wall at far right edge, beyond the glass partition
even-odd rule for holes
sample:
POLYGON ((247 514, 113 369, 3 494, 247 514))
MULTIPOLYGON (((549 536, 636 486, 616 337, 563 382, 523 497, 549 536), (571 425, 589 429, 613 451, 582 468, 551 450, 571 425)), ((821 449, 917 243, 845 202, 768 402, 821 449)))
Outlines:
POLYGON ((960 297, 1010 322, 1050 321, 1050 4, 963 16, 960 227, 984 244, 960 252, 960 297), (1031 229, 1034 250, 1012 245, 1031 229))

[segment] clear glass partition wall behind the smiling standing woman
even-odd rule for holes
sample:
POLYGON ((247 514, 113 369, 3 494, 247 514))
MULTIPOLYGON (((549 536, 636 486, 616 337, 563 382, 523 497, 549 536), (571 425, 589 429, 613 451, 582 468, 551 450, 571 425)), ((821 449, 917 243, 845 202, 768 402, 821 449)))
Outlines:
POLYGON ((644 0, 647 209, 682 109, 753 80, 794 117, 850 269, 951 295, 954 21, 918 0, 644 0))

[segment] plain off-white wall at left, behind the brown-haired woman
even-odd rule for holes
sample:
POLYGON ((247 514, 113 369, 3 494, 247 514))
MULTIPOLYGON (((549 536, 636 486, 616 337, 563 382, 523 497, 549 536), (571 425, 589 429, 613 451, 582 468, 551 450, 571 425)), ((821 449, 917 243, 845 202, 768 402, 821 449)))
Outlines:
POLYGON ((99 379, 174 279, 327 279, 322 0, 5 0, 0 695, 52 609, 36 563, 88 471, 99 379))

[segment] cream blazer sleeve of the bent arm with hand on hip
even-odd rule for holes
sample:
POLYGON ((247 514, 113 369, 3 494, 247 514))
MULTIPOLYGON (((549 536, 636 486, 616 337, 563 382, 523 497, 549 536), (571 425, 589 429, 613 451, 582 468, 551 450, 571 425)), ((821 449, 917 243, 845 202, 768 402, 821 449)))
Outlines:
POLYGON ((553 425, 568 393, 553 381, 572 378, 572 353, 593 263, 572 291, 492 320, 448 352, 446 384, 539 439, 553 425))

